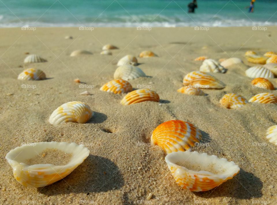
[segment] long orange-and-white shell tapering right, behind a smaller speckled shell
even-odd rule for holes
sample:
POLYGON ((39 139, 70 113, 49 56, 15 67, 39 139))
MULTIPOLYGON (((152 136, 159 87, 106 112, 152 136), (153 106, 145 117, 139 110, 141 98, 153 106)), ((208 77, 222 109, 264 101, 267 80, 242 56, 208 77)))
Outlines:
POLYGON ((192 85, 198 88, 224 88, 225 84, 217 78, 201 71, 188 73, 183 80, 184 85, 192 85))

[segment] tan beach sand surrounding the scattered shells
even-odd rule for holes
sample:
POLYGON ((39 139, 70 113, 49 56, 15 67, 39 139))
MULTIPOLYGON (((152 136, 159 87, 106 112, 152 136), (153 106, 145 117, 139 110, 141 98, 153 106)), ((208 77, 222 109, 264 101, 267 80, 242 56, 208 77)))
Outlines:
MULTIPOLYGON (((226 93, 250 97, 267 92, 252 88, 245 70, 251 66, 247 50, 263 54, 276 49, 276 27, 266 31, 242 28, 20 28, 0 29, 0 204, 252 204, 277 202, 277 147, 265 137, 277 123, 276 104, 249 103, 238 110, 220 106, 226 93), (73 39, 65 39, 73 36, 73 39), (113 56, 100 55, 111 43, 113 56), (74 50, 92 55, 70 57, 74 50), (134 88, 151 87, 158 102, 122 106, 124 95, 100 91, 113 79, 117 61, 151 50, 154 58, 139 58, 148 77, 130 80, 134 88), (23 64, 25 52, 40 55, 45 63, 23 64), (199 70, 198 56, 238 57, 245 64, 214 76, 227 84, 222 90, 203 90, 207 96, 178 93, 182 79, 199 70), (24 68, 36 67, 46 80, 20 81, 24 68), (78 84, 79 78, 86 84, 78 84), (85 85, 80 86, 79 85, 85 85), (84 91, 91 95, 79 95, 84 91), (68 101, 83 101, 95 112, 86 124, 50 125, 50 114, 68 101), (153 130, 162 122, 180 119, 203 134, 192 150, 235 162, 240 172, 216 189, 193 193, 174 181, 158 146, 150 145, 153 130), (41 141, 75 142, 90 150, 88 158, 69 176, 42 188, 18 183, 5 155, 13 148, 41 141)), ((277 86, 276 79, 271 82, 277 86)), ((277 95, 277 91, 269 91, 277 95)))

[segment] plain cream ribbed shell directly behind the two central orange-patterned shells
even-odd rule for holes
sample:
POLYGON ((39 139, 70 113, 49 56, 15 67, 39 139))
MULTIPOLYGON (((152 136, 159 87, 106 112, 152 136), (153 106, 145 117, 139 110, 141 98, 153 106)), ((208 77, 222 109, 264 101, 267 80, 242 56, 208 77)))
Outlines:
POLYGON ((132 80, 139 77, 146 77, 146 75, 138 67, 123 65, 115 70, 113 77, 114 79, 132 80))

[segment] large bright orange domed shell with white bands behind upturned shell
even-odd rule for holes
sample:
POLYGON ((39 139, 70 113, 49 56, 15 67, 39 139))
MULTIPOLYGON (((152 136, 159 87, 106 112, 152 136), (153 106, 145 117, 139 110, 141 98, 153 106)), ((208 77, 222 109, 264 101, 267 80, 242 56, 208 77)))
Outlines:
POLYGON ((170 120, 160 124, 151 135, 151 144, 162 147, 166 154, 185 151, 202 139, 201 132, 191 123, 170 120))

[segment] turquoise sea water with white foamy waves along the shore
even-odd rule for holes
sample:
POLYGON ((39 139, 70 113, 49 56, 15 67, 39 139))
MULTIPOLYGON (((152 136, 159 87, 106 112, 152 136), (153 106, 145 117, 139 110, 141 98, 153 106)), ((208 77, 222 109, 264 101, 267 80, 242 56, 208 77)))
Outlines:
POLYGON ((265 26, 277 25, 277 1, 198 0, 0 0, 0 27, 265 26))

